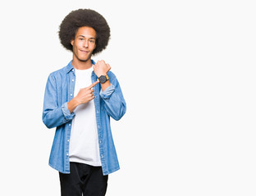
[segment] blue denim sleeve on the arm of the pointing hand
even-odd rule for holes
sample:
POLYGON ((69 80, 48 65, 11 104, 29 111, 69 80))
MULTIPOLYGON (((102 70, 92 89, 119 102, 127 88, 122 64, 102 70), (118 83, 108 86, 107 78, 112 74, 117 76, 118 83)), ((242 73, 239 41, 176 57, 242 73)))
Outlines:
POLYGON ((43 123, 48 128, 58 127, 71 121, 75 114, 70 113, 67 102, 58 105, 57 82, 53 74, 50 74, 46 83, 43 100, 43 123))

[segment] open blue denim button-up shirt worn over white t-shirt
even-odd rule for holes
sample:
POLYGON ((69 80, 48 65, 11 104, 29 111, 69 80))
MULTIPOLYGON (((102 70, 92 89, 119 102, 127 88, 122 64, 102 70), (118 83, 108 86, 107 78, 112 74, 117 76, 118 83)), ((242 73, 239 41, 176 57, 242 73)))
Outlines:
MULTIPOLYGON (((94 60, 92 63, 95 64, 94 60)), ((126 113, 126 101, 114 73, 107 73, 111 86, 105 91, 98 83, 94 87, 94 105, 98 127, 98 145, 103 175, 117 171, 117 152, 112 139, 110 117, 119 120, 126 113)), ((92 83, 97 76, 92 72, 92 83)), ((67 109, 67 102, 74 97, 75 69, 71 62, 66 67, 50 73, 43 101, 43 123, 56 128, 49 165, 62 173, 70 173, 69 140, 75 113, 67 109)))

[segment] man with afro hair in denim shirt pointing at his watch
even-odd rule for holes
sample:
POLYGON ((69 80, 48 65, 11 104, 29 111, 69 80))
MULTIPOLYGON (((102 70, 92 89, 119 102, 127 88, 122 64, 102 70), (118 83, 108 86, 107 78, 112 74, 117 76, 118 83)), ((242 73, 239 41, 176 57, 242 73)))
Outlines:
POLYGON ((119 120, 126 101, 110 65, 91 60, 109 37, 107 21, 89 9, 71 11, 60 25, 73 59, 48 77, 43 122, 57 127, 49 165, 59 171, 62 195, 105 195, 108 174, 119 169, 110 117, 119 120))

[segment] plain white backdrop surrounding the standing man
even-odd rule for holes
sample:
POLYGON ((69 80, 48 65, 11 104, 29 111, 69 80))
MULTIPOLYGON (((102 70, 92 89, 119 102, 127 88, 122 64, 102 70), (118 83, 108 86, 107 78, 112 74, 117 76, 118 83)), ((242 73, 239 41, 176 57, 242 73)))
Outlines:
POLYGON ((41 120, 48 74, 71 60, 58 26, 101 13, 126 115, 108 196, 256 195, 254 1, 7 1, 1 25, 0 195, 60 195, 41 120))

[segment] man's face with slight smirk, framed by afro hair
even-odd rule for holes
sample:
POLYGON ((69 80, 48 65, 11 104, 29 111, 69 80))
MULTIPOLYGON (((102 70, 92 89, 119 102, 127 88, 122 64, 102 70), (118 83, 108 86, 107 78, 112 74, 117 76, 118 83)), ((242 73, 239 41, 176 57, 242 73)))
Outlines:
POLYGON ((76 34, 75 40, 71 40, 73 46, 73 58, 80 61, 90 60, 96 47, 96 31, 91 27, 80 27, 76 34))

